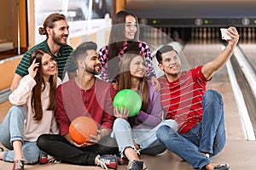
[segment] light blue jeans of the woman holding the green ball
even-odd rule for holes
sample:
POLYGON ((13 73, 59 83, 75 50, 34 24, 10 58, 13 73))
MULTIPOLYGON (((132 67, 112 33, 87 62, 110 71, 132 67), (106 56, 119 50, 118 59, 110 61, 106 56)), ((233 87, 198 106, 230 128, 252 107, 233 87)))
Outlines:
MULTIPOLYGON (((177 122, 173 120, 164 120, 153 129, 131 129, 128 121, 123 118, 117 118, 113 122, 112 136, 119 145, 121 156, 124 156, 125 148, 131 147, 136 150, 133 142, 139 144, 142 152, 144 150, 144 153, 148 155, 157 155, 165 151, 166 147, 156 138, 157 129, 163 125, 177 129, 177 122), (150 148, 152 150, 148 150, 150 148)), ((136 151, 138 154, 140 153, 139 150, 136 151)))

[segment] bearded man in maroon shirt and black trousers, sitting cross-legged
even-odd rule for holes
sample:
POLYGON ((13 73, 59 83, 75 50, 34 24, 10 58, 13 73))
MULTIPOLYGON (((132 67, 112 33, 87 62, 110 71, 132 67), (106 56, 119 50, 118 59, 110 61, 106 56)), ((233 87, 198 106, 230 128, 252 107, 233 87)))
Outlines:
POLYGON ((61 84, 55 95, 55 117, 61 134, 41 135, 38 147, 67 163, 116 168, 116 157, 108 155, 119 152, 110 137, 116 93, 110 83, 95 77, 102 68, 96 48, 95 42, 84 42, 73 51, 78 76, 61 84), (84 144, 75 143, 69 135, 71 122, 79 116, 90 116, 98 127, 98 134, 91 135, 84 144))

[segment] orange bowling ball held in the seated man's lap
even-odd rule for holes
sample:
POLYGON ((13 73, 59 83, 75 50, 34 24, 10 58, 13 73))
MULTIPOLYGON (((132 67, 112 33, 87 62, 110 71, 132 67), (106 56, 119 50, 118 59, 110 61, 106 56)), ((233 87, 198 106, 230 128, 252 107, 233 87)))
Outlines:
POLYGON ((84 144, 90 139, 90 134, 97 134, 96 122, 88 116, 79 116, 71 122, 69 135, 77 144, 84 144))

